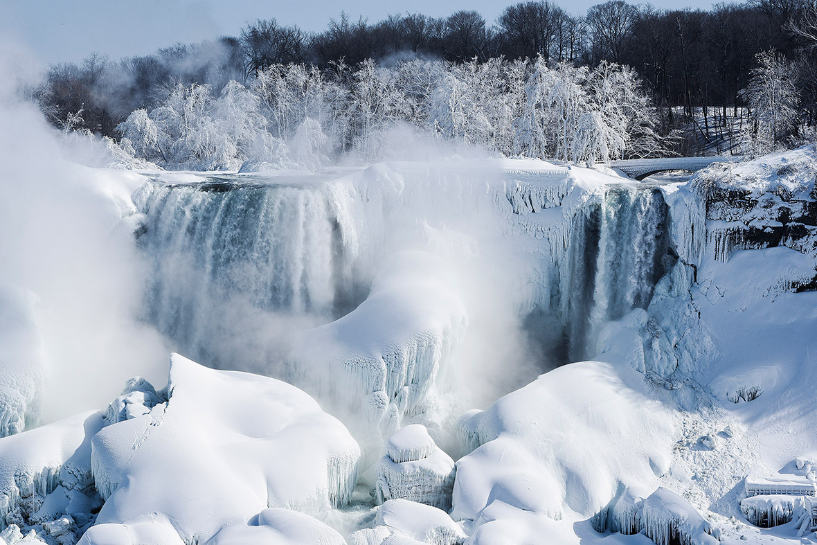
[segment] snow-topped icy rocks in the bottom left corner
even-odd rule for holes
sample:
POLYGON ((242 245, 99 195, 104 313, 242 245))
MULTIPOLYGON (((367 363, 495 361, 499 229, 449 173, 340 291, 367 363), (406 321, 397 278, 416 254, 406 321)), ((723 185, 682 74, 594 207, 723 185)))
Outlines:
POLYGON ((0 529, 75 543, 101 505, 91 472, 102 413, 83 413, 0 439, 0 529))

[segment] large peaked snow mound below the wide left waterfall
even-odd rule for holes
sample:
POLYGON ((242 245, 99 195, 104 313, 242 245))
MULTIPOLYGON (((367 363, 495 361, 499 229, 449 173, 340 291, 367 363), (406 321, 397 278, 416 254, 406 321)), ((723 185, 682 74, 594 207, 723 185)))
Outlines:
POLYGON ((158 512, 205 542, 266 507, 319 512, 349 501, 359 447, 285 382, 171 356, 167 401, 92 440, 99 523, 158 512))

